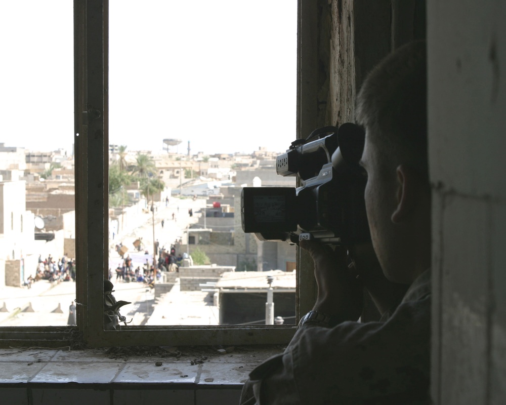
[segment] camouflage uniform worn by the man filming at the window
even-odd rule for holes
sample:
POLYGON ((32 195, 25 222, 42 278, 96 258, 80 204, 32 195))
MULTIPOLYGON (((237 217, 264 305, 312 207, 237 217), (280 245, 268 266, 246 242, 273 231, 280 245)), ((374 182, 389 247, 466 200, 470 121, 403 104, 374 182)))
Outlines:
POLYGON ((243 405, 429 403, 430 271, 381 322, 306 323, 249 375, 243 405))

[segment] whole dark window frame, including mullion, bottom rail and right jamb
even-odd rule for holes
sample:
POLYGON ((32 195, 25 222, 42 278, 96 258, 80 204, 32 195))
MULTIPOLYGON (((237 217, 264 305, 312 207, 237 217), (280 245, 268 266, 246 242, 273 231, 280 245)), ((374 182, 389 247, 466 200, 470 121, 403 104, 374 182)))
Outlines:
MULTIPOLYGON (((103 279, 108 276, 108 6, 108 0, 74 0, 75 244, 80 270, 76 272, 77 326, 3 327, 0 346, 13 341, 21 346, 46 347, 63 342, 74 347, 82 343, 104 347, 289 342, 295 326, 127 326, 121 331, 103 330, 103 279)), ((298 0, 298 138, 317 124, 317 26, 317 4, 298 0)), ((315 298, 312 261, 298 249, 297 320, 311 309, 315 298)))

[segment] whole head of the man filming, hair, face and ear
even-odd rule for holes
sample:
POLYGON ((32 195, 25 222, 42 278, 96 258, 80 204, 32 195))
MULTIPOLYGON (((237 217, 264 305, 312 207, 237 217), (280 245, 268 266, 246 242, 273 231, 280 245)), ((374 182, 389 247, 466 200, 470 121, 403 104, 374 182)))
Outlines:
POLYGON ((372 243, 387 278, 404 283, 431 261, 426 65, 425 42, 405 45, 368 74, 357 97, 372 243))

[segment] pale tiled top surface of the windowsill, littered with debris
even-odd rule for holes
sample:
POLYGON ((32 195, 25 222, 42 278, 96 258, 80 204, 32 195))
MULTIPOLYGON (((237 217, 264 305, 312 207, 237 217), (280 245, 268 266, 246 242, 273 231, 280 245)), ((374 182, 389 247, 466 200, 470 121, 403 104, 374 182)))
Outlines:
POLYGON ((105 349, 2 349, 0 384, 4 387, 126 384, 133 388, 139 388, 138 384, 170 384, 174 389, 183 390, 190 386, 192 390, 218 386, 240 389, 251 370, 283 350, 281 346, 241 346, 220 354, 207 347, 165 349, 169 353, 154 355, 149 352, 111 355, 105 349))

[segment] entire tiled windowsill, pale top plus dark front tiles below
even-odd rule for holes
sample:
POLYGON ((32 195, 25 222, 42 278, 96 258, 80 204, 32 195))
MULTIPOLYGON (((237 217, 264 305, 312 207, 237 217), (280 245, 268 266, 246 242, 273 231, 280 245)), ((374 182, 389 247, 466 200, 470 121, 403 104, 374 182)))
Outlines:
POLYGON ((163 356, 109 358, 105 349, 3 349, 0 350, 0 402, 238 403, 249 372, 281 351, 282 347, 241 347, 220 354, 211 348, 184 348, 178 356, 170 352, 163 356), (198 362, 192 365, 192 360, 198 362))

